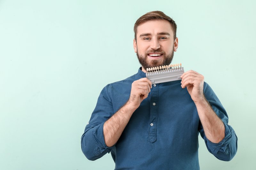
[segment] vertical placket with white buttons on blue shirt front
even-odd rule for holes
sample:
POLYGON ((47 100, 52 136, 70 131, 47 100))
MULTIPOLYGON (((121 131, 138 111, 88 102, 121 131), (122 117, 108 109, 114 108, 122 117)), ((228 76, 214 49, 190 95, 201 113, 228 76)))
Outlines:
POLYGON ((157 115, 158 115, 158 85, 154 84, 151 88, 150 120, 148 125, 148 141, 150 143, 153 143, 156 141, 157 115))

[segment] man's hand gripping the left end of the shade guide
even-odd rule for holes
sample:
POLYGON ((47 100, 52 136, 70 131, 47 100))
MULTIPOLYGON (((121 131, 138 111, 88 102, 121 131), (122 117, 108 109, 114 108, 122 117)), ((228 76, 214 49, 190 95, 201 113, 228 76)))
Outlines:
POLYGON ((152 83, 148 78, 140 78, 132 83, 131 95, 128 103, 135 109, 148 97, 152 83))

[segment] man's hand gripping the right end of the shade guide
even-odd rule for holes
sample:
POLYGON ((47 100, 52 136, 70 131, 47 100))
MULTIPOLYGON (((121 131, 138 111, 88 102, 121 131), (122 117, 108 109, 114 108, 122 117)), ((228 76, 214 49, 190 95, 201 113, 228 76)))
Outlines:
POLYGON ((189 70, 183 73, 180 78, 181 87, 187 87, 188 93, 190 94, 192 100, 197 103, 204 100, 204 76, 196 71, 189 70))

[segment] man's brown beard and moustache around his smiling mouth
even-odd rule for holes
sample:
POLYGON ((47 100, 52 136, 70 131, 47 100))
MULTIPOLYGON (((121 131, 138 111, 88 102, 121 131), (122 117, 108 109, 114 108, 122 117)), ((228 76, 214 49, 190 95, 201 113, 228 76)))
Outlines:
POLYGON ((137 48, 137 57, 139 60, 139 63, 141 64, 141 66, 146 70, 147 68, 152 68, 152 67, 157 67, 157 66, 163 66, 163 65, 169 65, 172 62, 172 58, 174 55, 174 47, 172 48, 172 52, 169 54, 166 54, 163 50, 161 50, 160 48, 157 50, 153 50, 153 51, 147 51, 145 53, 145 55, 140 55, 138 53, 138 48, 137 48), (161 53, 163 54, 161 59, 148 59, 148 53, 161 53))

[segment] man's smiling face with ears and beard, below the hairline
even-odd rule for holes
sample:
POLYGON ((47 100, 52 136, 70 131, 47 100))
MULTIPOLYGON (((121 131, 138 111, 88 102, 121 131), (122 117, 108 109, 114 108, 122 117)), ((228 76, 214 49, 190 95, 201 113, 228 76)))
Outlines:
POLYGON ((147 21, 137 27, 137 41, 133 40, 142 69, 172 62, 173 52, 177 51, 178 38, 173 39, 173 30, 167 20, 147 21))

